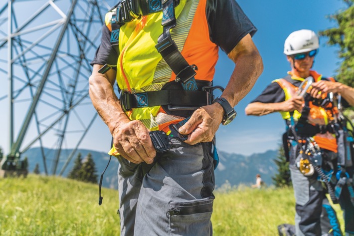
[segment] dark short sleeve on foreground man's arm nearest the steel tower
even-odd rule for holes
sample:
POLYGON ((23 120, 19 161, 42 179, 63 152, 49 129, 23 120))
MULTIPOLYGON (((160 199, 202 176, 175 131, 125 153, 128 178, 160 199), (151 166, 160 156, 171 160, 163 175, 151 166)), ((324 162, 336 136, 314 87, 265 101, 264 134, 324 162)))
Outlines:
POLYGON ((102 37, 101 44, 96 50, 95 58, 91 61, 91 65, 93 64, 109 64, 109 65, 117 65, 118 53, 111 46, 111 31, 109 31, 106 25, 102 26, 102 37))

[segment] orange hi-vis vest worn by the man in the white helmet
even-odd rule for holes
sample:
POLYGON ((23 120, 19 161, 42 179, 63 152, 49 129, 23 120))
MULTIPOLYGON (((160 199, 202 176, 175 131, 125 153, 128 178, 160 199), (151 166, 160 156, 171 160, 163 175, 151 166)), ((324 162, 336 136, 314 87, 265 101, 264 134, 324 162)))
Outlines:
MULTIPOLYGON (((288 72, 292 77, 292 79, 299 80, 299 81, 304 81, 304 78, 300 78, 298 76, 293 75, 291 72, 288 72)), ((314 78, 315 82, 318 82, 322 79, 322 75, 318 74, 316 71, 311 70, 310 75, 314 78)), ((327 78, 330 81, 335 82, 335 79, 332 77, 327 78)), ((279 84, 279 86, 283 89, 285 93, 285 100, 290 99, 292 96, 296 94, 296 91, 298 90, 298 87, 287 81, 286 79, 276 79, 273 82, 276 82, 279 84)), ((311 89, 311 87, 310 87, 311 89)), ((327 93, 322 94, 322 98, 326 98, 327 93)), ((331 121, 334 120, 334 116, 338 114, 338 109, 337 107, 334 107, 332 103, 326 105, 326 107, 321 107, 314 105, 310 101, 310 112, 308 116, 308 123, 312 125, 327 125, 331 121)), ((280 112, 282 115, 282 118, 285 120, 290 120, 290 112, 280 112)), ((293 114, 294 120, 297 121, 301 117, 301 112, 295 110, 293 114)), ((336 137, 334 134, 330 134, 329 132, 325 134, 316 134, 314 136, 314 139, 316 143, 324 149, 337 152, 337 141, 336 137)))

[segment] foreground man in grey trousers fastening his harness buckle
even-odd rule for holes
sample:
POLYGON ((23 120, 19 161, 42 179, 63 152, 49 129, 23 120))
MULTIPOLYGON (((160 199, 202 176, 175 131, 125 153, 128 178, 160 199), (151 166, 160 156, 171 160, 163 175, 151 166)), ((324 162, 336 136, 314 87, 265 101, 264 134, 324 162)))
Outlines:
POLYGON ((120 162, 121 235, 212 235, 213 139, 262 72, 256 28, 234 0, 122 0, 105 21, 89 92, 120 162), (235 63, 224 90, 219 47, 235 63))

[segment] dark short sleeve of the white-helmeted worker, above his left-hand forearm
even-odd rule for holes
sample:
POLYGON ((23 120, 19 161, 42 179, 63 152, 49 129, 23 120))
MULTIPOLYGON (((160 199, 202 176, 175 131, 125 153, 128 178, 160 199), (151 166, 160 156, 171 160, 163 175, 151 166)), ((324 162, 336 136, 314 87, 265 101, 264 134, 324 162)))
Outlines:
POLYGON ((261 103, 276 103, 276 102, 284 102, 285 101, 285 93, 284 90, 280 87, 277 82, 273 82, 264 91, 259 95, 253 102, 261 102, 261 103))

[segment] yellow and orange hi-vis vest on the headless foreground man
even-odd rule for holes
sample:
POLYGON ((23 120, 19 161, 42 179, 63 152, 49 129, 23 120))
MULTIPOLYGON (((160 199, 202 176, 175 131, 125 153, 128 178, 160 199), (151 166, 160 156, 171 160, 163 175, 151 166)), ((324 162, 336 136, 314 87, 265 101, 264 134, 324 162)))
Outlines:
MULTIPOLYGON (((180 0, 171 36, 185 60, 198 67, 194 78, 212 81, 218 46, 210 41, 205 7, 206 0, 180 0)), ((107 13, 105 19, 110 30, 112 14, 107 13)), ((116 78, 120 89, 130 93, 158 91, 175 80, 176 75, 155 48, 163 32, 162 16, 162 11, 156 12, 121 26, 116 78)), ((171 123, 184 119, 166 114, 161 106, 133 108, 126 114, 150 130, 166 131, 171 123)))

